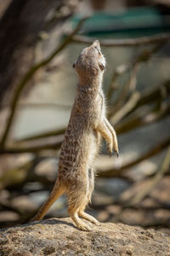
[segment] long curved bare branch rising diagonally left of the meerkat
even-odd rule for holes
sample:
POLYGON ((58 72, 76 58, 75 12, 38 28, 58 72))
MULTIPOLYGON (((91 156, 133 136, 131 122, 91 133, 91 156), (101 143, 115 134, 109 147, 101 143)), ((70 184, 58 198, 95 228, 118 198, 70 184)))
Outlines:
POLYGON ((18 86, 16 86, 16 90, 14 92, 14 97, 13 100, 11 102, 10 105, 10 114, 8 117, 8 121, 7 121, 7 125, 6 125, 6 129, 3 133, 3 137, 2 137, 2 142, 1 142, 1 148, 4 147, 7 137, 8 137, 8 132, 11 128, 13 119, 14 119, 14 113, 16 111, 17 108, 17 102, 18 99, 20 97, 20 94, 22 92, 22 90, 25 88, 26 83, 32 78, 32 76, 34 75, 34 73, 37 72, 38 69, 40 69, 41 67, 44 67, 48 64, 49 61, 53 60, 54 56, 59 54, 59 52, 65 48, 66 45, 68 45, 69 43, 71 43, 73 36, 79 31, 79 29, 82 26, 82 23, 84 22, 84 20, 86 20, 86 18, 80 20, 80 22, 78 23, 77 27, 73 30, 73 32, 71 32, 70 35, 68 35, 63 42, 56 47, 56 49, 54 49, 54 52, 48 56, 48 58, 46 58, 43 61, 40 61, 39 63, 37 63, 35 66, 31 67, 28 72, 26 73, 26 75, 23 77, 23 79, 21 79, 20 84, 18 84, 18 86))

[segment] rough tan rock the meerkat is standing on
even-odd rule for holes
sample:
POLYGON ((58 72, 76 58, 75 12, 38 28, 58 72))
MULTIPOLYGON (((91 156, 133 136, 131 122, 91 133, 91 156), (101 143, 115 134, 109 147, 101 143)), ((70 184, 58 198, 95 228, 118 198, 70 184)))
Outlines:
POLYGON ((71 218, 51 218, 0 230, 0 256, 170 256, 170 237, 156 230, 103 223, 77 230, 71 218))

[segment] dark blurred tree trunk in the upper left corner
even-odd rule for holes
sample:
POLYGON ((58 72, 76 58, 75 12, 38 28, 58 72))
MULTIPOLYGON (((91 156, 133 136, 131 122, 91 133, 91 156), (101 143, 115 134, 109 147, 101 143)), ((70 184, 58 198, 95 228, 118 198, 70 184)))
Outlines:
POLYGON ((66 15, 47 20, 49 12, 56 14, 65 5, 63 0, 13 0, 9 4, 0 20, 1 102, 9 99, 14 84, 31 67, 39 32, 49 31, 72 15, 75 6, 68 3, 66 15))

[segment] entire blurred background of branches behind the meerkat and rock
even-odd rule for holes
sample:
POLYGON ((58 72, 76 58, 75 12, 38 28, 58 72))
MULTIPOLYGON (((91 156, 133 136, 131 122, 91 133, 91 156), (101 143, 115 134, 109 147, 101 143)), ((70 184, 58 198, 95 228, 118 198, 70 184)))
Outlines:
MULTIPOLYGON (((98 38, 120 157, 103 143, 87 212, 170 235, 170 2, 0 3, 0 226, 26 223, 53 188, 76 95, 72 63, 98 38)), ((67 216, 62 196, 45 218, 67 216)))

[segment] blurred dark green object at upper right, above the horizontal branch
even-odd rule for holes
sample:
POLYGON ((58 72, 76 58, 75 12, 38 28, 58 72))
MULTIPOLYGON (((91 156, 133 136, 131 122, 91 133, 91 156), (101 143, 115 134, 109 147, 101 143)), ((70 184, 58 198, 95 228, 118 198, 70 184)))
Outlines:
MULTIPOLYGON (((81 19, 72 18, 73 25, 81 19)), ((170 32, 170 15, 156 8, 133 8, 122 13, 95 13, 82 26, 82 35, 95 38, 136 38, 170 32)))

